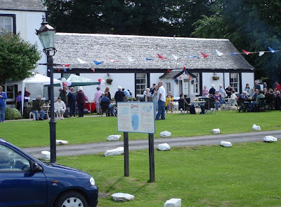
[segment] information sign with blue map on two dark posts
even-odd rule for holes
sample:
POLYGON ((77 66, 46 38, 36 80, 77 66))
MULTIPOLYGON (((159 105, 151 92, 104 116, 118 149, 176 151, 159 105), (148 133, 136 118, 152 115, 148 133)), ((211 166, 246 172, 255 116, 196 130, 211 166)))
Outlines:
POLYGON ((129 176, 129 132, 145 133, 149 140, 150 182, 155 182, 153 102, 119 102, 117 120, 118 131, 124 132, 124 176, 129 176))

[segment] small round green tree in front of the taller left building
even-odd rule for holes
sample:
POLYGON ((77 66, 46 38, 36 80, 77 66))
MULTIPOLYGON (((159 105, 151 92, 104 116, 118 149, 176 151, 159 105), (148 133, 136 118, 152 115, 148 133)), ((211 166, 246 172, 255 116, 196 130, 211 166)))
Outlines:
POLYGON ((6 79, 22 80, 32 74, 41 58, 37 45, 22 40, 20 34, 0 35, 0 85, 6 79))

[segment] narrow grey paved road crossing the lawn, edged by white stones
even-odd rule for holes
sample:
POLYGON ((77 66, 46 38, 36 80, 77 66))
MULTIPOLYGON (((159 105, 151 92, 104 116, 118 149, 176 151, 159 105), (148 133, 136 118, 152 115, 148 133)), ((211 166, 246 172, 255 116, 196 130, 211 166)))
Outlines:
MULTIPOLYGON (((253 131, 241 134, 217 134, 208 136, 192 136, 192 137, 174 137, 174 138, 155 138, 155 148, 160 143, 168 143, 171 148, 178 146, 195 146, 195 145, 219 145, 221 141, 230 141, 231 143, 255 142, 263 141, 264 136, 275 136, 281 139, 281 130, 277 131, 253 131)), ((81 145, 58 145, 57 156, 69 155, 91 155, 105 150, 122 147, 122 141, 87 143, 81 145)), ((129 141, 129 150, 148 149, 148 140, 129 141)), ((34 157, 40 157, 41 151, 48 150, 49 147, 40 148, 24 148, 26 152, 34 157)))

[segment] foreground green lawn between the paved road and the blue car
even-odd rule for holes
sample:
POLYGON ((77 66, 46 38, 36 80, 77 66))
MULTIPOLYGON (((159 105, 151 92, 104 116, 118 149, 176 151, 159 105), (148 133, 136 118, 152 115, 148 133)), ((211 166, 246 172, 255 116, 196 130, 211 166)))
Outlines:
POLYGON ((148 183, 148 150, 130 151, 127 178, 123 156, 58 157, 58 162, 91 173, 100 207, 163 206, 171 198, 181 198, 182 206, 280 206, 280 149, 279 141, 155 151, 155 183, 148 183), (116 204, 110 197, 116 192, 136 199, 116 204))

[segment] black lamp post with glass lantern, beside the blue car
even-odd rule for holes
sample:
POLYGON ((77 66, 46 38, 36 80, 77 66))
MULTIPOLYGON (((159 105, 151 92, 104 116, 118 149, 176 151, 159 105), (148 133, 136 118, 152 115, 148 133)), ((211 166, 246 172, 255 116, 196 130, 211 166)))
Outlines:
POLYGON ((54 113, 54 97, 53 97, 53 55, 55 55, 55 29, 46 22, 43 17, 43 22, 39 30, 36 29, 36 34, 41 41, 43 51, 47 55, 47 66, 50 70, 51 78, 51 120, 50 124, 50 152, 51 163, 56 162, 56 145, 55 145, 55 113, 54 113))

